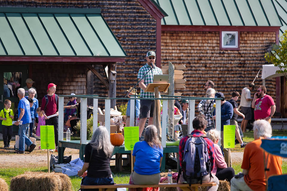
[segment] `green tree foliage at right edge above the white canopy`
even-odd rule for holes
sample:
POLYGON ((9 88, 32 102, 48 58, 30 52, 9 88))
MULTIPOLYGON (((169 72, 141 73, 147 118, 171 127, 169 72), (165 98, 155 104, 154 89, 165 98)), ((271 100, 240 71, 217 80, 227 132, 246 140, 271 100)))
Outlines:
POLYGON ((283 73, 287 78, 287 30, 280 37, 280 45, 273 44, 272 51, 265 53, 264 58, 269 63, 280 68, 276 73, 283 73))

